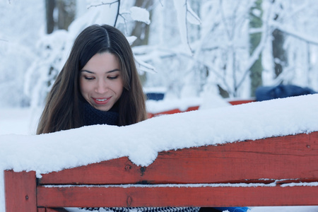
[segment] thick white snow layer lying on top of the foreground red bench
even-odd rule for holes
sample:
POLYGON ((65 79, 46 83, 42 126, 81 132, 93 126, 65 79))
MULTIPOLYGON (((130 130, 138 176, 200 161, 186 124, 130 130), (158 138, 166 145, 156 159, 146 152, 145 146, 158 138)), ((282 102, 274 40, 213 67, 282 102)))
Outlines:
MULTIPOLYGON (((35 170, 40 177, 42 173, 123 156, 146 166, 160 151, 310 133, 318 131, 317 102, 318 94, 304 95, 163 115, 130 126, 96 125, 43 135, 0 135, 0 200, 4 203, 2 170, 35 170)), ((0 124, 0 128, 6 126, 6 118, 1 118, 0 124)))

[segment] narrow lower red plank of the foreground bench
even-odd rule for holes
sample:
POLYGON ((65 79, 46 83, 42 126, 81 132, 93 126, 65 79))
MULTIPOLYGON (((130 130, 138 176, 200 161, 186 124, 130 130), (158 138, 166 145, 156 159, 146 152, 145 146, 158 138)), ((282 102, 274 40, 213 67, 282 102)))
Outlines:
POLYGON ((306 206, 318 187, 38 187, 40 206, 306 206))

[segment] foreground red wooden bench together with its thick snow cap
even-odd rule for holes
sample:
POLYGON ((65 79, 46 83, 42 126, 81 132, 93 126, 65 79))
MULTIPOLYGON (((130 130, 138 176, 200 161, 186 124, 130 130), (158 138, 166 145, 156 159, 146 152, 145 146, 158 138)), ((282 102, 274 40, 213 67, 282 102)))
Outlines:
POLYGON ((6 211, 318 205, 317 103, 307 95, 0 136, 6 211))

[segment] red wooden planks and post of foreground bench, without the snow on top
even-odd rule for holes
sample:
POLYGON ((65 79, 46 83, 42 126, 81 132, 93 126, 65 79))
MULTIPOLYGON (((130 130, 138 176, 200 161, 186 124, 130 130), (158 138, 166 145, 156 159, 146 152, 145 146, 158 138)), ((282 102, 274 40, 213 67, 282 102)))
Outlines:
POLYGON ((318 205, 317 161, 318 131, 161 152, 148 167, 118 158, 40 179, 6 170, 6 211, 318 205))

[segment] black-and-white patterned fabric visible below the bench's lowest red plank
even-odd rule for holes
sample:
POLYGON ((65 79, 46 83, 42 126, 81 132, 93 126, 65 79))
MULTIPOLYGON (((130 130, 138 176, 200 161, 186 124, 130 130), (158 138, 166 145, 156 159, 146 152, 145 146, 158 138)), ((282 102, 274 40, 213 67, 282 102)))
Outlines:
MULTIPOLYGON (((85 208, 88 211, 99 211, 100 208, 85 208)), ((198 212, 200 208, 192 207, 169 207, 169 208, 104 208, 105 211, 113 212, 198 212)))

